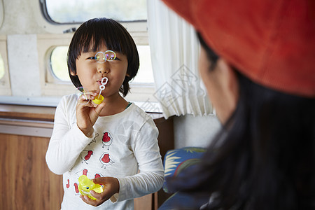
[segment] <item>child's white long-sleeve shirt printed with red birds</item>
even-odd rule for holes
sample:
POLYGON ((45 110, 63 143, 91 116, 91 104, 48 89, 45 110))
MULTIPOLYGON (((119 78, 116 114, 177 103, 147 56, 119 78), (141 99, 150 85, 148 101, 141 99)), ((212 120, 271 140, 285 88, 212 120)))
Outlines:
POLYGON ((99 117, 90 137, 76 124, 78 96, 62 97, 46 153, 49 169, 63 174, 62 209, 133 209, 133 199, 158 191, 164 170, 158 129, 151 116, 135 104, 113 116, 99 117), (137 173, 139 170, 139 174, 137 173), (99 207, 83 202, 78 177, 116 177, 120 191, 99 207))

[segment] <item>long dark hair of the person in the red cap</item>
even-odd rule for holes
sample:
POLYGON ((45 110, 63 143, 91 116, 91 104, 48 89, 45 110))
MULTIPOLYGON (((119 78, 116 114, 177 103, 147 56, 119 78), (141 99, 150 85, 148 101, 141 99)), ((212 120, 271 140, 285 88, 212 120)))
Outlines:
POLYGON ((169 188, 211 196, 206 209, 314 209, 315 99, 237 76, 239 101, 228 125, 200 165, 169 188))

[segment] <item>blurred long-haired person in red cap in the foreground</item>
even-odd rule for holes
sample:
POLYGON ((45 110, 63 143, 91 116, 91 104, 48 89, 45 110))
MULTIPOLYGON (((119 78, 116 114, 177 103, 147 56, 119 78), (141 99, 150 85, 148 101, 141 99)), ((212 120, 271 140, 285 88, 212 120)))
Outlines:
POLYGON ((172 209, 315 209, 315 1, 163 0, 195 27, 223 124, 172 209), (184 206, 184 207, 183 207, 184 206))

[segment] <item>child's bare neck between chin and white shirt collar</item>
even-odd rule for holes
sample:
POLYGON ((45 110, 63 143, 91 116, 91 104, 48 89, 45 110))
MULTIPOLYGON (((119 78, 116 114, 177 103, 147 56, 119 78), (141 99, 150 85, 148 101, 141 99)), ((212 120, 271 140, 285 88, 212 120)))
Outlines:
POLYGON ((124 111, 128 106, 128 102, 121 97, 119 93, 110 97, 105 97, 104 103, 106 105, 104 106, 104 109, 102 109, 101 113, 99 113, 99 116, 101 117, 113 116, 124 111))

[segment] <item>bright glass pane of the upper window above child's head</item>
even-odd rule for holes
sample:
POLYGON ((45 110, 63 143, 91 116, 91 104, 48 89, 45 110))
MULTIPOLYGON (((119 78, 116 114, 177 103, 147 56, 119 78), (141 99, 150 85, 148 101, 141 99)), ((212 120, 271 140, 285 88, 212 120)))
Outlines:
POLYGON ((85 22, 106 17, 122 22, 146 20, 146 0, 45 0, 45 12, 57 23, 85 22))

